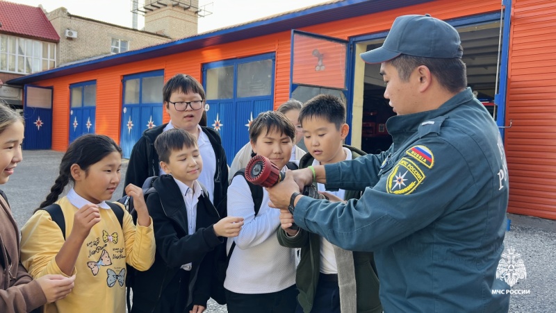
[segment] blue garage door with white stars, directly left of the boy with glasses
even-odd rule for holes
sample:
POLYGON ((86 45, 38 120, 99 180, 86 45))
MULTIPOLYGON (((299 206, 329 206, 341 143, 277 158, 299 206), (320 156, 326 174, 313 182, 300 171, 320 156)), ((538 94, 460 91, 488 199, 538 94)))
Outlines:
POLYGON ((121 140, 124 158, 143 131, 162 124, 164 71, 124 76, 121 140))

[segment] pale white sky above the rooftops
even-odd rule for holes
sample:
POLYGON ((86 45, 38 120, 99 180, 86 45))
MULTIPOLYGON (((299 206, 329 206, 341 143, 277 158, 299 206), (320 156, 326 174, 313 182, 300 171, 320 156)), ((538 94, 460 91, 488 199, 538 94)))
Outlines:
MULTIPOLYGON (((73 15, 131 27, 131 0, 8 0, 10 2, 42 7, 47 11, 63 6, 73 15)), ((181 0, 188 2, 188 0, 181 0)), ((199 33, 216 28, 249 22, 254 19, 296 10, 327 1, 322 0, 199 0, 211 15, 199 18, 199 33)), ((139 0, 141 6, 142 0, 139 0)), ((144 25, 139 16, 139 28, 144 25)))

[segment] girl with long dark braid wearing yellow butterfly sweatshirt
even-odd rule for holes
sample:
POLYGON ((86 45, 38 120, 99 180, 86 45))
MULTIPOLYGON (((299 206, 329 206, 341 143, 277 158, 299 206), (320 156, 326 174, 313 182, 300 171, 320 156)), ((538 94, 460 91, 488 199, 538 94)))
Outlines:
MULTIPOLYGON (((126 263, 145 271, 154 262, 152 219, 142 190, 126 187, 133 196, 137 226, 121 205, 110 200, 120 183, 122 149, 104 135, 83 135, 70 144, 47 200, 56 203, 65 233, 47 210, 37 210, 22 228, 22 263, 34 278, 47 274, 76 275, 67 297, 45 305, 44 312, 125 312, 126 263), (64 187, 73 182, 66 196, 64 187), (120 221, 116 209, 123 211, 120 221)), ((49 207, 51 208, 51 207, 49 207)), ((121 212, 118 212, 121 214, 121 212)))

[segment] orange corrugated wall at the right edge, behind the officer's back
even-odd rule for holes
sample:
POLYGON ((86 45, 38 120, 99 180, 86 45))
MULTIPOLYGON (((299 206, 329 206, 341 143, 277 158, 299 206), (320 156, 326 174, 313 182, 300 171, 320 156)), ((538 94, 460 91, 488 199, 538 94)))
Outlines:
POLYGON ((514 0, 512 11, 508 211, 556 219, 556 2, 514 0))

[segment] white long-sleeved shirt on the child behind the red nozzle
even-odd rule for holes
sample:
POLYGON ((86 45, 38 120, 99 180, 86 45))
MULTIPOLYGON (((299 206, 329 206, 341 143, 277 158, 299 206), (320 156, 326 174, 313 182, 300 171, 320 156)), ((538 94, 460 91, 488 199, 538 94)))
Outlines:
POLYGON ((237 294, 268 294, 295 284, 295 251, 280 246, 276 232, 280 227, 280 211, 268 206, 268 193, 263 189, 263 202, 255 217, 254 202, 243 176, 236 176, 228 187, 228 216, 243 217, 244 224, 236 242, 224 280, 224 288, 237 294))

